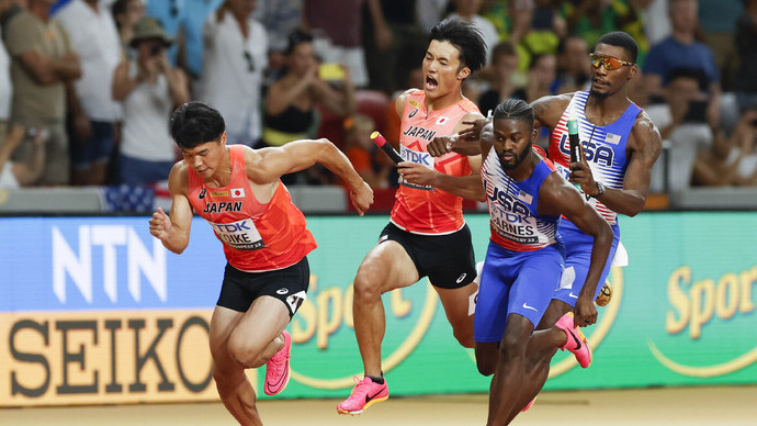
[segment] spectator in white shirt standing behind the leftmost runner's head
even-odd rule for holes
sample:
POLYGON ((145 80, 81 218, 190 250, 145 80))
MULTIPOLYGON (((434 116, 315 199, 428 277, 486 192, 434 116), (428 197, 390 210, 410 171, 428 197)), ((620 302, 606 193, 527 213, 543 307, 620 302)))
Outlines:
POLYGON ((205 21, 199 98, 226 119, 230 144, 255 146, 261 136, 261 89, 268 65, 265 29, 252 18, 255 1, 226 0, 205 21))

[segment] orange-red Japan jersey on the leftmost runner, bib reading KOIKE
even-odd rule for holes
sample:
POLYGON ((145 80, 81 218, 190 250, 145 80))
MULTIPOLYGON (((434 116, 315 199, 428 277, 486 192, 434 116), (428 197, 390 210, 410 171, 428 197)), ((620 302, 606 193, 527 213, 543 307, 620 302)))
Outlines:
POLYGON ((226 187, 207 188, 189 168, 189 200, 224 244, 228 262, 248 272, 290 267, 318 245, 305 227, 305 216, 279 182, 273 198, 261 204, 250 188, 242 146, 230 146, 231 180, 226 187))

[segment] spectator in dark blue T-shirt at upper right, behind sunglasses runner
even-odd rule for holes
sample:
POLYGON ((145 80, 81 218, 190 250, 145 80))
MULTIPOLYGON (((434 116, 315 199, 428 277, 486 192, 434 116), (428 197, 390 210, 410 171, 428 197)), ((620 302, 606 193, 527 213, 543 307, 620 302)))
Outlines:
POLYGON ((721 109, 720 71, 715 57, 705 44, 697 40, 699 19, 697 0, 668 0, 673 34, 652 46, 644 65, 644 87, 652 100, 662 100, 663 87, 670 81, 676 68, 700 69, 708 79, 708 122, 718 127, 721 109))

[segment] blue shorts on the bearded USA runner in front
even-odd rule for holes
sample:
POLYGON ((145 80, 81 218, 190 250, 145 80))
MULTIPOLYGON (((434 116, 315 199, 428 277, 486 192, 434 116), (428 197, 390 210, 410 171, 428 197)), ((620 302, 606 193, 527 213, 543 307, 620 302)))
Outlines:
POLYGON ((536 326, 563 273, 562 245, 534 251, 510 251, 489 242, 473 318, 478 343, 500 341, 510 314, 536 326))

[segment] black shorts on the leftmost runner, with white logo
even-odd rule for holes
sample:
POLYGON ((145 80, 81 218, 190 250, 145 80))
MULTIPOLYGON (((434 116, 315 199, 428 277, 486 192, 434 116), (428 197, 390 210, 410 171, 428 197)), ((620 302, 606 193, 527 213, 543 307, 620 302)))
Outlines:
POLYGON ((282 301, 292 317, 307 298, 309 281, 307 257, 289 268, 264 272, 245 272, 226 264, 217 305, 247 312, 256 299, 270 295, 282 301))

